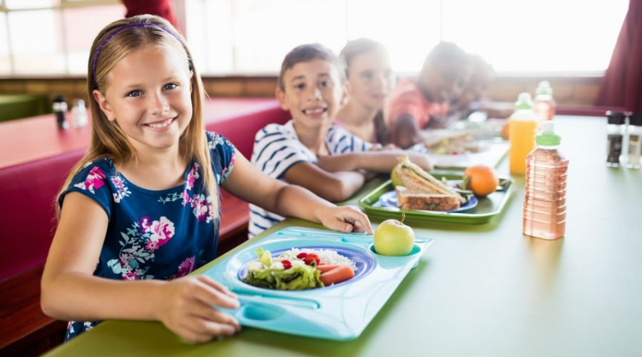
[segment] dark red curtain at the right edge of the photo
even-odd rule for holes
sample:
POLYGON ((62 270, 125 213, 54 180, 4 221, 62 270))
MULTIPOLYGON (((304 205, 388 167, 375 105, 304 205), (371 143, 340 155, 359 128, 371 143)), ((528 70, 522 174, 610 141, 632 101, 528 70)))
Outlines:
POLYGON ((642 112, 642 0, 629 0, 596 105, 642 112))

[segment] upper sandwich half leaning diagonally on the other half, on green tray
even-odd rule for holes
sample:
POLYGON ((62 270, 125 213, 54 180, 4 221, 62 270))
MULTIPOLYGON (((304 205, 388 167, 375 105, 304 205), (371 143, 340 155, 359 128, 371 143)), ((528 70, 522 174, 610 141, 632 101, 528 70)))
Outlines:
POLYGON ((407 155, 399 156, 399 164, 394 168, 399 179, 404 186, 415 193, 437 193, 447 196, 454 196, 459 204, 466 203, 466 198, 462 197, 452 187, 447 186, 442 181, 437 180, 424 169, 413 164, 407 155))

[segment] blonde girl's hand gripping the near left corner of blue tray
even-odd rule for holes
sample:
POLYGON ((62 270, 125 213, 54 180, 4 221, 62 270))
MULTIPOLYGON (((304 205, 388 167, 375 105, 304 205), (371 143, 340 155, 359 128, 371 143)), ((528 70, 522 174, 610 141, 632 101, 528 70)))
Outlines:
POLYGON ((240 331, 233 316, 215 309, 238 308, 236 296, 208 276, 185 276, 161 286, 156 314, 158 320, 190 342, 210 341, 240 331))

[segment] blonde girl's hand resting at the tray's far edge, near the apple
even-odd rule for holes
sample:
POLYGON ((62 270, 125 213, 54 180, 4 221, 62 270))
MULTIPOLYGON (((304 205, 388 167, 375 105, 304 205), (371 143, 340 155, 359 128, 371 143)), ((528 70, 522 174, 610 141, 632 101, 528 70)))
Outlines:
POLYGON ((319 214, 319 221, 333 231, 374 233, 368 216, 355 206, 326 206, 319 214))

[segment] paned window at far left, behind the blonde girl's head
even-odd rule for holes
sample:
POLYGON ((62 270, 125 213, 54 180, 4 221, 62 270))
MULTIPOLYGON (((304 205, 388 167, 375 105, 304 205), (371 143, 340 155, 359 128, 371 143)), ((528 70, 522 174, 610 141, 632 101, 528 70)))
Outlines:
POLYGON ((118 0, 0 4, 0 74, 86 74, 93 38, 125 14, 118 0))

